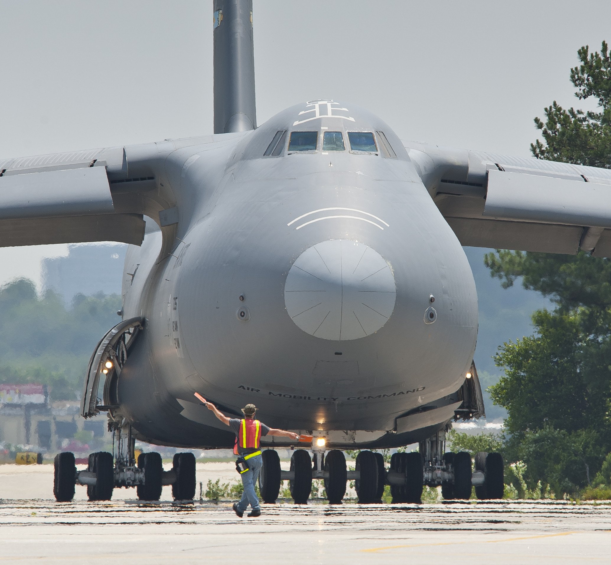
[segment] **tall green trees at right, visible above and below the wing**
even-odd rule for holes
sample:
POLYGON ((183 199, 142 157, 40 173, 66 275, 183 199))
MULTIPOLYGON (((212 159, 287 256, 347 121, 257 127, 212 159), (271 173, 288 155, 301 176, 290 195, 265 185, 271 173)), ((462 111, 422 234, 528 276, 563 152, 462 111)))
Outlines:
MULTIPOLYGON (((531 145, 538 159, 611 168, 611 59, 577 52, 571 70, 579 99, 593 97, 599 111, 566 110, 555 101, 545 120, 535 118, 543 140, 531 145)), ((505 445, 510 461, 527 464, 533 488, 543 480, 558 493, 576 493, 591 482, 611 442, 611 261, 496 250, 485 256, 502 286, 521 279, 556 304, 533 314, 535 335, 503 344, 495 361, 505 376, 490 387, 508 411, 505 445)))

